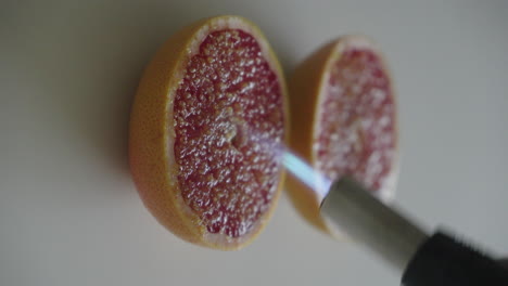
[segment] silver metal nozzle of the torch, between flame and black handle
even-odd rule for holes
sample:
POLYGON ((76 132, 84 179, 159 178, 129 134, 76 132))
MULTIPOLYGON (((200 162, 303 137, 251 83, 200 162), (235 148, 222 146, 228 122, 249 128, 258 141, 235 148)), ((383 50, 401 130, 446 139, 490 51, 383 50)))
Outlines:
POLYGON ((343 230, 399 271, 428 238, 420 227, 348 178, 331 184, 321 204, 321 216, 331 227, 343 230))

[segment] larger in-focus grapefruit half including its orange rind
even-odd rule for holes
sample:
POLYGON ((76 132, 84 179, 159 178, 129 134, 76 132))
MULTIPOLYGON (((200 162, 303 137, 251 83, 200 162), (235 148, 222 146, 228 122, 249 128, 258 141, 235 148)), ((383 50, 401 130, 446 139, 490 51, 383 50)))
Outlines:
POLYGON ((218 16, 172 37, 147 67, 129 160, 152 214, 179 237, 238 249, 268 221, 289 122, 279 63, 249 21, 218 16))

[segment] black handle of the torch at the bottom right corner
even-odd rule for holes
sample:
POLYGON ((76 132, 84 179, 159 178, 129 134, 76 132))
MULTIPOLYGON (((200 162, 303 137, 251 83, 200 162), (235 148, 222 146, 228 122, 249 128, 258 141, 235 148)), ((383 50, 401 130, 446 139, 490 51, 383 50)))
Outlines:
POLYGON ((494 259, 437 232, 404 272, 405 286, 508 286, 508 270, 494 259))

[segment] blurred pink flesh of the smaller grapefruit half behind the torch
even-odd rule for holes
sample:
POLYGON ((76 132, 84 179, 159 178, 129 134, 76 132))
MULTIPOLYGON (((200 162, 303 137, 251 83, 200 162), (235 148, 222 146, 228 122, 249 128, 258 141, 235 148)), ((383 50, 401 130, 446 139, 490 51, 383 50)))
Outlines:
POLYGON ((395 156, 395 104, 390 78, 370 49, 347 48, 332 64, 314 143, 317 169, 348 174, 379 191, 395 156))

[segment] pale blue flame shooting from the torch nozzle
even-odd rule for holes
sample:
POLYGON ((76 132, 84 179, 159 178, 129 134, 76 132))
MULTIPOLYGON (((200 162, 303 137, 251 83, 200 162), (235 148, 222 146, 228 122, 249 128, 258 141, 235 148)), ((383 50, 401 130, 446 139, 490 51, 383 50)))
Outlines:
POLYGON ((316 192, 318 197, 321 199, 325 198, 331 185, 331 181, 327 177, 313 169, 302 158, 299 158, 289 151, 284 152, 282 160, 285 169, 288 169, 302 183, 316 192))

